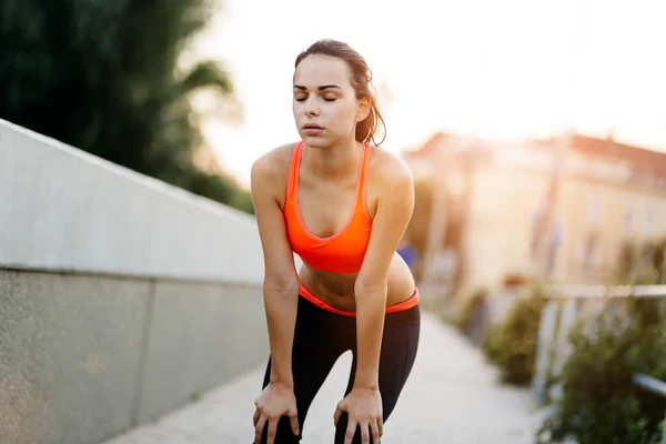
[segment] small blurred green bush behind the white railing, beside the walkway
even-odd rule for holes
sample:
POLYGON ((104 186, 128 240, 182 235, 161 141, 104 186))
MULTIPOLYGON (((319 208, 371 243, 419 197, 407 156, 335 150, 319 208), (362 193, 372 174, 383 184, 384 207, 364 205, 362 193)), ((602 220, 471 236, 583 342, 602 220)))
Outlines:
POLYGON ((503 382, 528 385, 534 374, 541 315, 546 304, 541 291, 517 299, 506 317, 491 325, 483 350, 486 357, 500 367, 503 382))

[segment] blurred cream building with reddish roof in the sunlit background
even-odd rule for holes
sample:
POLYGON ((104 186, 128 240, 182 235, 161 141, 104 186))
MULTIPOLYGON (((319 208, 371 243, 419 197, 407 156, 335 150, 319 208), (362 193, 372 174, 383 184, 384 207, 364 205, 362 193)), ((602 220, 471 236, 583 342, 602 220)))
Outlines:
MULTIPOLYGON (((450 285, 455 294, 543 278, 535 222, 545 208, 561 141, 497 143, 437 133, 405 152, 417 190, 410 233, 423 258, 420 278, 428 279, 428 264, 442 252, 456 258, 450 285), (435 248, 428 249, 433 240, 435 248)), ((548 276, 609 283, 629 246, 666 238, 666 153, 612 138, 573 134, 567 142, 547 236, 548 276)), ((430 273, 438 271, 431 266, 430 273)))

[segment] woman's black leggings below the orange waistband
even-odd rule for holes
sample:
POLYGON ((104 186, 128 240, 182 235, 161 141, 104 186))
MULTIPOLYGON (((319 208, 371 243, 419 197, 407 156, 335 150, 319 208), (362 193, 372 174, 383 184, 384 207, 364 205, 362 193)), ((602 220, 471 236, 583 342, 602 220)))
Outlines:
MULTIPOLYGON (((420 330, 421 311, 418 305, 385 315, 379 369, 384 422, 393 412, 400 393, 412 371, 418 347, 420 330)), ((320 309, 305 297, 300 296, 292 349, 292 373, 301 436, 294 435, 289 417, 283 416, 278 423, 275 444, 299 443, 301 441, 303 423, 314 395, 324 383, 335 361, 347 350, 352 351, 353 361, 345 396, 352 390, 356 373, 356 317, 320 309)), ((263 387, 269 384, 270 375, 271 359, 269 357, 263 387)), ((339 401, 343 397, 341 396, 339 401)), ((335 405, 332 405, 331 408, 332 423, 335 405)), ((335 430, 335 444, 344 442, 346 427, 347 414, 343 413, 335 430)), ((266 423, 262 436, 262 443, 264 444, 266 443, 268 428, 266 423)), ((370 442, 373 442, 372 435, 370 442)), ((361 443, 359 427, 353 443, 361 443)))

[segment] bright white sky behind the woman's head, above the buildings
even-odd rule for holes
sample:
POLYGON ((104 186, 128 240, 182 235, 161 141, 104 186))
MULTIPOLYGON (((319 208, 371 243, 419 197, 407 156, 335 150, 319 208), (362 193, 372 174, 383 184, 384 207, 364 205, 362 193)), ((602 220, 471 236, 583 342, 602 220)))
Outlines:
POLYGON ((437 130, 506 139, 565 124, 666 150, 663 0, 225 1, 198 51, 223 60, 243 104, 240 125, 208 134, 244 184, 254 159, 297 140, 293 63, 321 38, 370 63, 394 151, 437 130))

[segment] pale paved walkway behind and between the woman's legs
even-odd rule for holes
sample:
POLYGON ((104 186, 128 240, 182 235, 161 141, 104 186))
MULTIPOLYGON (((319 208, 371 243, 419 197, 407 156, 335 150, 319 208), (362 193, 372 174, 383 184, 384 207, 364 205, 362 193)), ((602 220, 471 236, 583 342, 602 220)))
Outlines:
MULTIPOLYGON (((304 444, 333 443, 333 412, 344 393, 351 355, 343 355, 314 400, 304 444)), ((107 444, 250 444, 263 369, 196 403, 107 444)), ((384 426, 395 444, 533 444, 538 415, 526 390, 500 386, 496 372, 458 333, 424 313, 418 356, 384 426)))

